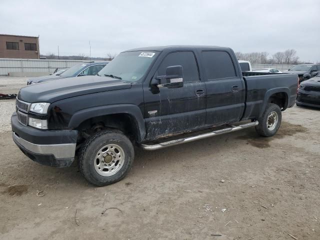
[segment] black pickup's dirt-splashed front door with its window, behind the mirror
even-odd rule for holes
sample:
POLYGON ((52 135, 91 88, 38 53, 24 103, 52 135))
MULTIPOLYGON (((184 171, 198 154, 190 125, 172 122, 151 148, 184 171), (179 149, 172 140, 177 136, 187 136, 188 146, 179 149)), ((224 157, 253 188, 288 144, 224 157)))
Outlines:
POLYGON ((200 80, 193 51, 174 51, 164 56, 153 78, 166 67, 181 65, 183 87, 143 87, 147 139, 202 127, 205 122, 205 84, 200 80))

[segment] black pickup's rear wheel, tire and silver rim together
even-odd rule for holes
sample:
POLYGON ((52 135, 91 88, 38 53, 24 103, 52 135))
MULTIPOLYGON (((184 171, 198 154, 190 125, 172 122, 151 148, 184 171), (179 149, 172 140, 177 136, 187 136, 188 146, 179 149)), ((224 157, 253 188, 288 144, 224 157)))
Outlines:
POLYGON ((273 136, 281 124, 281 109, 278 105, 268 103, 261 117, 258 118, 256 132, 261 136, 273 136))

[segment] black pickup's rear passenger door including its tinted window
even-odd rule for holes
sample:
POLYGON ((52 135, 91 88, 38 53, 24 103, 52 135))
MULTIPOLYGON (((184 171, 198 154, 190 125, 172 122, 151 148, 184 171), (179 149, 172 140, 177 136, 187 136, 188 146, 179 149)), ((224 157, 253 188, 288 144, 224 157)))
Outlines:
POLYGON ((201 51, 206 85, 206 124, 238 121, 244 110, 245 85, 229 52, 201 51))

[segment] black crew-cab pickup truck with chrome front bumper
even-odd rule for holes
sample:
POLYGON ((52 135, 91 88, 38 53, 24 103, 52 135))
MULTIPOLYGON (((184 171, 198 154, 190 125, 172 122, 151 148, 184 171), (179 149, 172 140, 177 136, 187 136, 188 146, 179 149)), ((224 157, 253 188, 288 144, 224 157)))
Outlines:
POLYGON ((21 88, 12 137, 44 165, 78 156, 84 177, 102 186, 124 177, 134 146, 156 150, 250 126, 274 135, 297 85, 296 74, 241 72, 227 47, 131 49, 98 75, 21 88))

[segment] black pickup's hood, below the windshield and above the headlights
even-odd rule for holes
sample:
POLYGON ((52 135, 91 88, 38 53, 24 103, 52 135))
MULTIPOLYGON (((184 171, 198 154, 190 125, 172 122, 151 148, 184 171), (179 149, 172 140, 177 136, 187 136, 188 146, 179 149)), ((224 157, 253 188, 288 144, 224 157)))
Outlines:
POLYGON ((22 87, 18 98, 26 102, 54 102, 89 93, 130 88, 130 83, 106 76, 78 76, 22 87))

